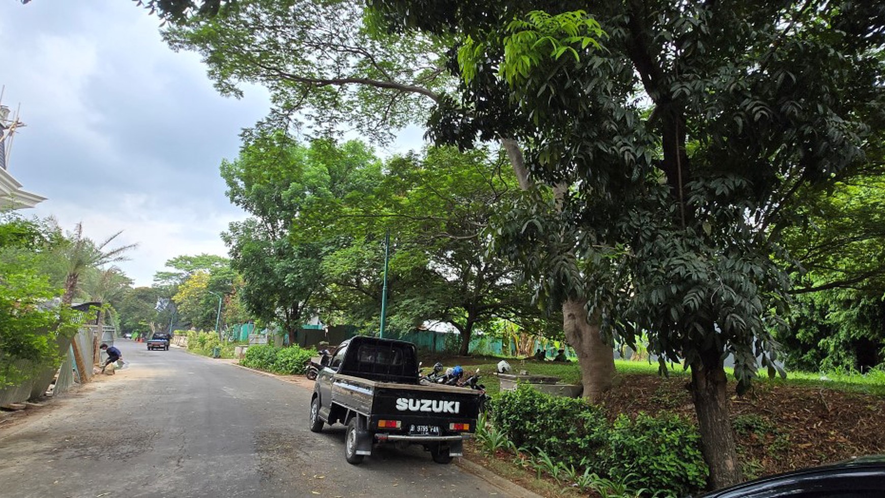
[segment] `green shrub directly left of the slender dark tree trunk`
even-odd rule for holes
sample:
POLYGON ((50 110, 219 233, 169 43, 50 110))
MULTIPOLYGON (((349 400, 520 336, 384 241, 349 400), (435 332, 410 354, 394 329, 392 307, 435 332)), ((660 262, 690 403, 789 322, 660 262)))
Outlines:
POLYGON ((636 486, 687 495, 707 480, 700 439, 696 427, 676 415, 620 415, 608 434, 605 471, 615 479, 630 476, 636 486))

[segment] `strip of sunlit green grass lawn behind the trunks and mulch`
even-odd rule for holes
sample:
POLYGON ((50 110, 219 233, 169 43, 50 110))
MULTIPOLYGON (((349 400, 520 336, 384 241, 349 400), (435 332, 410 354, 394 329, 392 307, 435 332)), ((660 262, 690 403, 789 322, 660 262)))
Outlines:
MULTIPOLYGON (((485 384, 489 393, 498 391, 498 382, 495 377, 497 363, 501 358, 482 357, 471 358, 465 360, 460 358, 465 371, 469 374, 476 368, 480 369, 481 382, 485 384)), ((516 358, 504 358, 511 365, 511 373, 519 373, 526 371, 534 375, 551 375, 558 377, 561 382, 566 384, 581 383, 581 369, 576 362, 554 363, 554 362, 538 362, 534 360, 519 360, 516 358)), ((443 362, 446 366, 450 366, 454 359, 450 359, 449 363, 443 362)), ((621 375, 658 375, 658 364, 650 364, 647 361, 629 361, 615 360, 615 369, 621 375)), ((683 370, 680 364, 672 364, 669 368, 671 376, 689 376, 689 371, 683 370)), ((731 369, 726 369, 729 377, 732 375, 731 369)), ((775 377, 768 378, 766 370, 759 370, 759 382, 768 385, 788 385, 797 387, 825 388, 835 389, 843 392, 862 393, 866 395, 885 396, 885 372, 873 371, 866 375, 859 373, 810 373, 810 372, 787 372, 787 379, 775 377)))

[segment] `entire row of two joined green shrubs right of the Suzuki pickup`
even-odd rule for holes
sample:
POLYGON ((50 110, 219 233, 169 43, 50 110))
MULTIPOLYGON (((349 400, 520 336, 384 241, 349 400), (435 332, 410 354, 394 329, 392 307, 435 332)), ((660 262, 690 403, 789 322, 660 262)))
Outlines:
POLYGON ((612 423, 583 400, 526 385, 496 395, 491 404, 496 430, 562 468, 629 480, 632 487, 663 494, 687 495, 706 484, 700 435, 685 418, 622 415, 612 423))

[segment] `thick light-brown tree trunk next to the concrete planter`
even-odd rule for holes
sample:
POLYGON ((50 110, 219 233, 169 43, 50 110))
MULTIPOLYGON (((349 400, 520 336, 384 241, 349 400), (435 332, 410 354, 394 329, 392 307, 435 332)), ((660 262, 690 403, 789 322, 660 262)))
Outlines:
POLYGON ((596 402, 614 382, 614 349, 602 339, 599 316, 588 321, 585 301, 569 299, 562 303, 566 341, 578 354, 584 397, 596 402))

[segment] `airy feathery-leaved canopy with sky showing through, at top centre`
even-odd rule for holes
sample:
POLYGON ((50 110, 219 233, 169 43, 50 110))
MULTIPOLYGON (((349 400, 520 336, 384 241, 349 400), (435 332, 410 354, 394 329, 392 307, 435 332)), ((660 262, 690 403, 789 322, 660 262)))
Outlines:
POLYGON ((435 38, 383 33, 347 0, 238 1, 173 24, 164 38, 200 53, 224 95, 241 95, 242 83, 267 88, 274 107, 262 127, 312 136, 352 126, 388 141, 452 81, 435 38))

